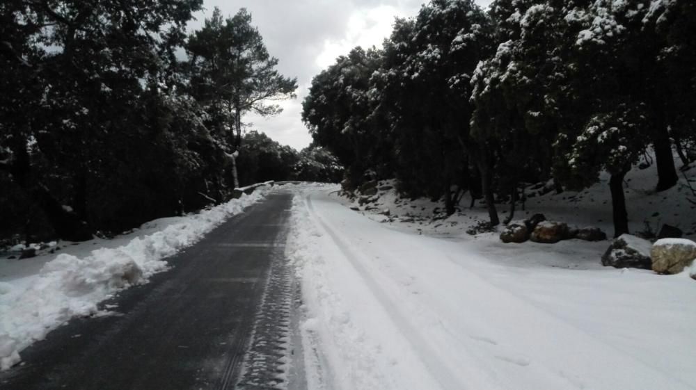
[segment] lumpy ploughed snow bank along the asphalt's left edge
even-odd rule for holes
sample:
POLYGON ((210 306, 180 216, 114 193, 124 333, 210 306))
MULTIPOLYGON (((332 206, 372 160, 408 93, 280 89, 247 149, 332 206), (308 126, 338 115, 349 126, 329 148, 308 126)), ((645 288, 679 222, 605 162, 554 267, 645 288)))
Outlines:
POLYGON ((258 188, 121 247, 100 248, 83 258, 59 254, 24 288, 19 281, 0 283, 0 370, 16 364, 19 352, 70 318, 96 314, 97 304, 113 293, 166 270, 164 258, 196 243, 267 192, 258 188))

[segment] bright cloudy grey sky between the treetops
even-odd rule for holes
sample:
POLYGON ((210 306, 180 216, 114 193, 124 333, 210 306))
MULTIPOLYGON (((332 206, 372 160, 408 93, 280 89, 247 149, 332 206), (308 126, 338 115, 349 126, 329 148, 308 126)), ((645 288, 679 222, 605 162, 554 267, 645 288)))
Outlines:
MULTIPOLYGON (((204 0, 189 32, 200 28, 217 6, 225 17, 239 8, 251 12, 271 56, 280 60, 278 70, 296 77, 297 98, 281 102, 283 113, 262 118, 247 115, 253 129, 263 131, 283 145, 302 149, 312 142, 301 120, 302 99, 313 76, 334 63, 336 57, 361 45, 381 46, 394 17, 411 17, 424 0, 204 0)), ((487 7, 491 0, 476 0, 487 7)))

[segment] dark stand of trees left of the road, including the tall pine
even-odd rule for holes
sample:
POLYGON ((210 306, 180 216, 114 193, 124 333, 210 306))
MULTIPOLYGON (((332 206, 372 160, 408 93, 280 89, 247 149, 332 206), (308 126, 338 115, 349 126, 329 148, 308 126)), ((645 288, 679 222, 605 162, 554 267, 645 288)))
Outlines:
POLYGON ((111 236, 258 181, 340 179, 326 149, 242 122, 278 113, 296 80, 244 9, 187 34, 202 3, 0 3, 0 246, 111 236))

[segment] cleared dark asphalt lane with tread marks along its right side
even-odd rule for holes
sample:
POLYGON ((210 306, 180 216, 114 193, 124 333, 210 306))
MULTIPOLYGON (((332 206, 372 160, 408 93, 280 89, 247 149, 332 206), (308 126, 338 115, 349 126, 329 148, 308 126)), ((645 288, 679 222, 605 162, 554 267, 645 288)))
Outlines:
POLYGON ((0 374, 0 389, 301 388, 288 363, 299 355, 284 255, 291 203, 269 195, 172 257, 171 270, 104 302, 112 315, 51 332, 0 374))

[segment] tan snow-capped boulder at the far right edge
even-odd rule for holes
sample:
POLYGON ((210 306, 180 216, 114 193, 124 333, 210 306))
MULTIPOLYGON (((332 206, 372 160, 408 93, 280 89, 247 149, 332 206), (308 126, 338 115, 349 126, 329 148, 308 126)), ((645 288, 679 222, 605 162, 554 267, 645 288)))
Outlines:
POLYGON ((696 243, 686 238, 662 238, 652 245, 650 257, 656 273, 681 273, 696 259, 696 243))

